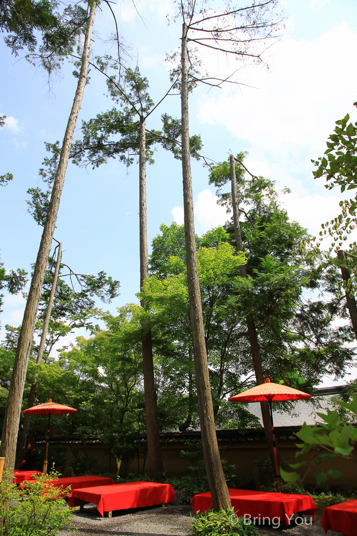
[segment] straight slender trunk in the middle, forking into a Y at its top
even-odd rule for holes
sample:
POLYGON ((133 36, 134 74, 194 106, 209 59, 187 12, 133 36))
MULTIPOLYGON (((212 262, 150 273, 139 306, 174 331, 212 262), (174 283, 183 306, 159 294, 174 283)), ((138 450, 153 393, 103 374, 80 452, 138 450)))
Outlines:
MULTIPOLYGON (((143 281, 149 275, 148 237, 146 217, 146 131, 145 118, 140 117, 139 139, 139 217, 140 217, 140 291, 143 281)), ((145 300, 141 301, 145 308, 145 300)), ((161 480, 164 471, 160 440, 158 435, 157 399, 153 361, 153 343, 151 341, 150 319, 141 324, 142 362, 144 375, 146 433, 148 441, 148 458, 150 477, 161 480)))

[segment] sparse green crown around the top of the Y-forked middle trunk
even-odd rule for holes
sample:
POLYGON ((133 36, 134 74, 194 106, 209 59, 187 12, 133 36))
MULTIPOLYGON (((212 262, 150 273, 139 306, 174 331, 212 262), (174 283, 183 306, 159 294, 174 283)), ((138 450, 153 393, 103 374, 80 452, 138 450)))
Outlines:
MULTIPOLYGON (((98 68, 107 72, 113 66, 111 58, 97 58, 98 68)), ((115 65, 115 64, 114 64, 115 65)), ((114 66, 117 69, 117 66, 114 66)), ((109 158, 118 158, 130 166, 135 155, 139 154, 139 123, 140 117, 146 118, 154 110, 154 102, 148 93, 147 78, 140 76, 139 68, 126 69, 123 78, 109 76, 107 80, 109 94, 118 108, 112 108, 88 122, 82 122, 82 139, 74 142, 71 149, 72 161, 79 166, 91 165, 94 168, 105 163, 109 158), (119 139, 113 137, 119 136, 119 139)), ((173 153, 174 158, 181 158, 181 122, 163 114, 163 130, 147 130, 146 160, 153 163, 155 144, 173 153)), ((200 159, 200 136, 190 138, 193 158, 200 159)))

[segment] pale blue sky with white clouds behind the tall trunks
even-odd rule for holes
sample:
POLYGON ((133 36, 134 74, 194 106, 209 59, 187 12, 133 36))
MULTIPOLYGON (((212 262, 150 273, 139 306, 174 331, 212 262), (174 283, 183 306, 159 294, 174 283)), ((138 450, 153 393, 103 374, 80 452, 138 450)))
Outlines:
MULTIPOLYGON (((226 87, 207 93, 199 87, 191 96, 190 131, 200 133, 203 151, 222 161, 231 150, 249 151, 249 168, 291 188, 284 203, 290 217, 316 234, 323 221, 338 211, 341 195, 313 180, 311 158, 320 156, 335 121, 355 112, 357 93, 357 5, 352 0, 287 0, 283 3, 286 28, 282 40, 270 48, 269 70, 247 67, 239 71, 242 83, 254 87, 226 87)), ((168 26, 170 0, 142 0, 141 18, 129 2, 114 6, 119 32, 131 44, 134 62, 158 101, 169 87, 165 53, 180 44, 180 24, 168 26)), ((97 13, 94 49, 112 32, 112 20, 103 4, 97 13)), ((14 58, 0 40, 2 77, 0 115, 7 116, 0 130, 0 174, 13 173, 13 181, 0 190, 1 256, 6 269, 35 262, 42 228, 27 213, 26 191, 41 185, 38 170, 45 156, 44 142, 62 140, 77 80, 73 66, 64 64, 52 91, 40 70, 25 59, 14 58)), ((226 73, 227 64, 215 54, 204 54, 211 72, 226 73)), ((100 75, 90 73, 81 120, 88 120, 113 105, 105 96, 100 75)), ((150 117, 149 128, 160 127, 160 115, 179 116, 179 98, 166 101, 150 117)), ((354 117, 354 120, 356 118, 354 117)), ((163 150, 155 152, 148 167, 149 243, 159 225, 181 222, 183 194, 180 162, 163 150)), ((208 171, 193 162, 196 232, 223 224, 225 211, 216 205, 208 171)), ((67 170, 55 237, 63 242, 63 259, 75 271, 106 271, 119 279, 121 295, 109 309, 134 301, 139 287, 138 168, 116 161, 99 169, 67 170)), ((5 296, 1 324, 19 325, 24 310, 21 296, 5 296)), ((107 306, 104 306, 108 308, 107 306)), ((74 337, 74 336, 73 336, 74 337)), ((353 377, 355 377, 355 373, 353 377)), ((330 383, 330 379, 326 378, 330 383)))

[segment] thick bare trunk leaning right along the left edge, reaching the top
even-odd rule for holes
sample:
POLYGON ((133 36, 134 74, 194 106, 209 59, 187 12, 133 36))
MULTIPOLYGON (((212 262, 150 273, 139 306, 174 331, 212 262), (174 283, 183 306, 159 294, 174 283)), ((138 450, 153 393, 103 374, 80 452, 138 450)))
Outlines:
POLYGON ((9 396, 7 398, 5 410, 2 441, 0 448, 0 455, 5 457, 6 468, 13 467, 15 461, 16 443, 21 413, 21 402, 22 396, 24 394, 26 372, 36 321, 37 309, 39 307, 41 299, 44 274, 46 271, 48 256, 52 244, 52 238, 54 236, 54 230, 56 227, 60 196, 62 193, 64 178, 69 161, 73 133, 81 107, 84 88, 87 82, 90 39, 92 38, 95 7, 96 4, 95 2, 93 2, 90 8, 88 27, 83 46, 82 64, 77 85, 77 91, 75 92, 71 114, 67 123, 55 182, 52 188, 52 195, 48 214, 43 228, 40 249, 37 254, 34 275, 28 293, 26 308, 24 312, 24 319, 22 321, 20 336, 16 349, 16 356, 10 382, 9 396))

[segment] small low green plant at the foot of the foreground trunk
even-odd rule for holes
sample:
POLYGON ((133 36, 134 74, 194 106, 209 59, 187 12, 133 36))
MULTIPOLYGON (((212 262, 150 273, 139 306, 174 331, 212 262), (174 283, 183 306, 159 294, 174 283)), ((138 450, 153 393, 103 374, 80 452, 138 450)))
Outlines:
POLYGON ((237 517, 234 508, 227 511, 198 512, 192 523, 192 536, 256 536, 258 531, 253 524, 245 525, 244 517, 237 517))

